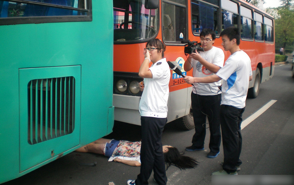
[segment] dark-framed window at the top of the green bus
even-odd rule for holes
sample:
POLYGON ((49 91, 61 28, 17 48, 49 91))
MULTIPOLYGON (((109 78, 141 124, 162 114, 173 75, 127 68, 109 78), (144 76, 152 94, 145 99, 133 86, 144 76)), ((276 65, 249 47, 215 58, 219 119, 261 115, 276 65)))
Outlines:
POLYGON ((15 18, 14 24, 90 21, 87 2, 85 0, 0 1, 0 25, 12 24, 11 18, 15 18), (59 17, 58 20, 52 19, 56 16, 59 17), (28 18, 24 19, 24 17, 28 18), (19 21, 15 21, 17 19, 19 21))

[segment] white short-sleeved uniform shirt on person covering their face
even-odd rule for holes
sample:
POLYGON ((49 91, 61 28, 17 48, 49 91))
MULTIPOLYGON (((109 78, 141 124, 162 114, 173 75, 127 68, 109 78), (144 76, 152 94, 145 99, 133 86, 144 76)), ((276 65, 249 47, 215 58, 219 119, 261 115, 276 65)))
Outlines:
POLYGON ((149 70, 152 72, 152 78, 144 78, 144 90, 139 104, 140 115, 166 118, 171 73, 166 58, 152 64, 149 70))

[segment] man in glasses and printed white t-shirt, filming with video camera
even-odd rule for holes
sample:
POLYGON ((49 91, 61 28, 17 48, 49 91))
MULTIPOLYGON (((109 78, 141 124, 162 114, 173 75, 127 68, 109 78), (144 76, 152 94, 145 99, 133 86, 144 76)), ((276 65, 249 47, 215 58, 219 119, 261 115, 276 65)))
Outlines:
MULTIPOLYGON (((224 51, 214 47, 215 32, 210 28, 203 29, 200 33, 200 42, 204 51, 197 50, 189 54, 184 63, 184 70, 190 71, 193 68, 193 77, 206 77, 214 75, 224 65, 224 51)), ((195 134, 192 138, 192 146, 187 151, 204 150, 206 135, 206 117, 209 121, 210 141, 208 158, 216 158, 219 155, 221 142, 220 134, 220 81, 206 84, 193 83, 191 100, 195 134)))

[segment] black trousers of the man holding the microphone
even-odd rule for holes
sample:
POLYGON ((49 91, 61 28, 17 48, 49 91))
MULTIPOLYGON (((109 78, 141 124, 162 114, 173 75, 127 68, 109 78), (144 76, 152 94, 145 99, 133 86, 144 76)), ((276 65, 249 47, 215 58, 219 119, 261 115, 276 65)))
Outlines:
POLYGON ((220 125, 222 129, 224 164, 227 173, 237 170, 240 166, 240 154, 242 149, 241 123, 245 108, 239 109, 231 105, 221 105, 220 125))

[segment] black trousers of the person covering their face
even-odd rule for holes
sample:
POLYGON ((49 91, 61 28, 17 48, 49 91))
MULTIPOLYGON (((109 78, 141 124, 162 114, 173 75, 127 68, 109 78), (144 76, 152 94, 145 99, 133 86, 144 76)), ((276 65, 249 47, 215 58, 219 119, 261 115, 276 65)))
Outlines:
POLYGON ((166 122, 167 118, 141 117, 141 169, 136 185, 147 185, 152 170, 159 185, 166 185, 168 181, 161 142, 166 122))

